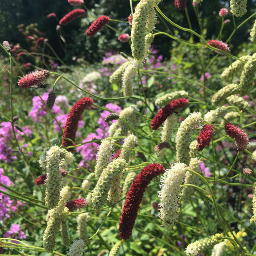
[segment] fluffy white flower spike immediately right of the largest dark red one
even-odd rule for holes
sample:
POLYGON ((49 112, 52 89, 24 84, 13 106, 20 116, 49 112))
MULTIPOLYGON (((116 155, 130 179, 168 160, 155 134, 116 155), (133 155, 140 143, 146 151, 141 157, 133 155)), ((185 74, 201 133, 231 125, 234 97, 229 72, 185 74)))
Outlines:
POLYGON ((166 170, 161 177, 161 190, 158 191, 160 198, 160 219, 163 225, 170 229, 179 220, 180 205, 178 203, 182 194, 182 184, 184 182, 187 166, 177 162, 170 169, 166 170))

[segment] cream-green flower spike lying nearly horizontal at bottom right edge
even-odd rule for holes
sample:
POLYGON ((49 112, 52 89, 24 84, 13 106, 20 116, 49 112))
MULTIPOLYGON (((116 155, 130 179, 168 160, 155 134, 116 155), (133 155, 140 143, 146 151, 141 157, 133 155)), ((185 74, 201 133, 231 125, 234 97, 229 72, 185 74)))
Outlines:
POLYGON ((216 234, 204 239, 200 239, 189 244, 185 250, 185 254, 188 256, 197 256, 198 254, 204 253, 207 249, 213 247, 219 243, 221 239, 221 234, 216 234))

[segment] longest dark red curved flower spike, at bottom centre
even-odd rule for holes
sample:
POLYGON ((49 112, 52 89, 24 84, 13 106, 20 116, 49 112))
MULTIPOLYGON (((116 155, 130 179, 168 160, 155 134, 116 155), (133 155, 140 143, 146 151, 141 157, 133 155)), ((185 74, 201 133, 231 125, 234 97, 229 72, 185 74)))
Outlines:
POLYGON ((127 240, 131 237, 145 189, 153 178, 163 174, 164 171, 161 164, 149 164, 134 179, 119 220, 120 238, 127 240))

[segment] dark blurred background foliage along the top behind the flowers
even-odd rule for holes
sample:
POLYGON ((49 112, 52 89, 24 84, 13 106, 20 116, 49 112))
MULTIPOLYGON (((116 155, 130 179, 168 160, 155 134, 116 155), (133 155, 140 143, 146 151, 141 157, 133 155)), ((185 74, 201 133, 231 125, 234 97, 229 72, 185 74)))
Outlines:
MULTIPOLYGON (((101 30, 97 36, 89 38, 85 31, 94 20, 94 17, 108 15, 110 19, 117 19, 124 22, 110 21, 110 26, 119 31, 121 34, 130 34, 130 25, 128 24, 128 16, 131 14, 130 4, 128 0, 90 0, 85 1, 86 7, 89 9, 86 16, 74 20, 61 29, 63 37, 66 40, 66 48, 61 47, 60 38, 56 26, 58 21, 53 18, 46 18, 49 13, 55 13, 57 19, 60 20, 65 14, 75 8, 84 8, 84 6, 72 6, 67 0, 0 0, 0 40, 8 40, 12 45, 19 43, 22 48, 28 49, 32 47, 27 36, 44 37, 49 40, 49 44, 54 48, 56 53, 67 64, 73 64, 77 58, 84 58, 89 63, 101 60, 102 56, 111 50, 116 52, 123 51, 130 54, 128 43, 120 43, 117 39, 118 34, 109 28, 101 30), (39 15, 40 14, 40 15, 39 15), (94 17, 93 17, 94 16, 94 17), (75 47, 74 47, 75 44, 75 47), (74 57, 75 56, 75 57, 74 57)), ((135 7, 138 1, 133 1, 135 7)), ((161 10, 179 25, 188 28, 185 11, 180 11, 174 7, 174 0, 162 1, 159 4, 161 10)), ((245 18, 249 17, 256 9, 256 0, 248 0, 247 13, 242 18, 235 18, 236 25, 240 24, 245 18)), ((229 7, 229 0, 204 0, 199 5, 199 17, 201 29, 196 18, 192 0, 187 0, 188 13, 190 15, 191 25, 194 31, 203 34, 207 40, 216 39, 219 33, 221 18, 218 15, 219 9, 229 7), (202 28, 207 28, 202 29, 202 28)), ((231 21, 224 25, 222 39, 225 41, 233 31, 234 24, 231 14, 226 19, 231 21)), ((235 33, 229 41, 232 54, 236 55, 239 51, 239 45, 248 41, 250 29, 252 28, 254 19, 243 25, 235 33)), ((169 25, 168 25, 169 26, 169 25)), ((163 22, 158 19, 157 30, 169 32, 163 22)), ((169 26, 171 33, 176 34, 173 28, 169 26)), ((189 39, 190 35, 186 32, 179 32, 179 37, 189 39)), ((197 39, 197 38, 195 38, 197 39)), ((172 42, 163 40, 163 37, 156 37, 154 44, 160 49, 165 59, 169 59, 172 52, 172 42)), ((46 50, 47 52, 47 50, 46 50)))

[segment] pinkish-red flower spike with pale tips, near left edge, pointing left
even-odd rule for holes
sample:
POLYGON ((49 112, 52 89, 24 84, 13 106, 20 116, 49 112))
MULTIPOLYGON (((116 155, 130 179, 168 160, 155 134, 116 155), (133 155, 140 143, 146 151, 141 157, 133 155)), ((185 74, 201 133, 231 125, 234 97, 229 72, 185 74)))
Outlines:
POLYGON ((18 86, 20 88, 40 87, 46 81, 49 75, 50 72, 48 70, 37 70, 22 77, 18 81, 18 86))

